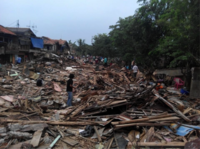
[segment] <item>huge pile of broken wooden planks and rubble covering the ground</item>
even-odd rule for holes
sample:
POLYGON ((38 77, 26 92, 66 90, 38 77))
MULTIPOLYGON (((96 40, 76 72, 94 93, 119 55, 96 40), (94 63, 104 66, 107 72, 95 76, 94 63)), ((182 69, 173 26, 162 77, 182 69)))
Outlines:
POLYGON ((195 148, 200 136, 199 99, 113 64, 85 64, 43 53, 17 66, 2 66, 0 148, 132 149, 195 148), (75 74, 73 106, 66 81, 75 74), (44 79, 38 87, 36 80, 44 79))

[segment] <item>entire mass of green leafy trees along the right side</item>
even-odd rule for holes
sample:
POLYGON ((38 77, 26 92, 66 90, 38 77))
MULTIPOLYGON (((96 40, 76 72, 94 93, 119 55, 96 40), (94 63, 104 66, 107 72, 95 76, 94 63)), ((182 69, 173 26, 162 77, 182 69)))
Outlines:
POLYGON ((148 69, 200 65, 200 1, 138 0, 135 14, 119 18, 109 34, 94 36, 92 46, 77 41, 77 51, 134 59, 148 69))

